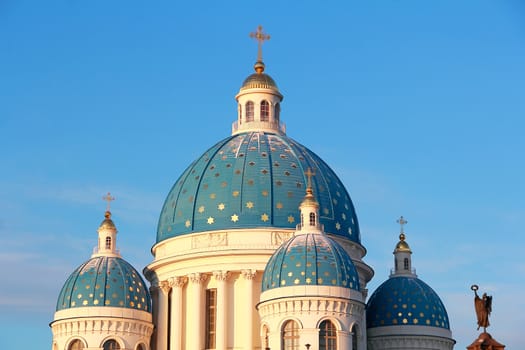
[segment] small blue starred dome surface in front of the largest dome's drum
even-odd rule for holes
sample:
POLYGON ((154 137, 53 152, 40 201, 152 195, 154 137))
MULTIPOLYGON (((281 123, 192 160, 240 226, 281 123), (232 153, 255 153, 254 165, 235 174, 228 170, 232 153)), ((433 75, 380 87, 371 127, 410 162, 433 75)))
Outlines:
POLYGON ((272 255, 262 291, 288 286, 336 286, 359 290, 359 275, 348 253, 324 234, 300 234, 272 255))

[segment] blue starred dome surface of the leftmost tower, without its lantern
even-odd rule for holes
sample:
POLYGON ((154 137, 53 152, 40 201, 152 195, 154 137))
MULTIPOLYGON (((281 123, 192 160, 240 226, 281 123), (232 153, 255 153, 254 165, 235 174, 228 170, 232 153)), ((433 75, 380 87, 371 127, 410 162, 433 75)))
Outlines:
POLYGON ((98 256, 80 265, 58 296, 56 311, 110 306, 151 312, 151 297, 140 274, 122 258, 98 256))

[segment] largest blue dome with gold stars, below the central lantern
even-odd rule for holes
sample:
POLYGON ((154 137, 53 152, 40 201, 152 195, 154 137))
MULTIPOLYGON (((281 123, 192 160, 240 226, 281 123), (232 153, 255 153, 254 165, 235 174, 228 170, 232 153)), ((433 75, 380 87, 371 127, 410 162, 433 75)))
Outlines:
POLYGON ((354 205, 334 171, 291 138, 262 131, 220 141, 184 171, 162 208, 157 243, 210 230, 295 229, 308 168, 324 231, 360 244, 354 205))

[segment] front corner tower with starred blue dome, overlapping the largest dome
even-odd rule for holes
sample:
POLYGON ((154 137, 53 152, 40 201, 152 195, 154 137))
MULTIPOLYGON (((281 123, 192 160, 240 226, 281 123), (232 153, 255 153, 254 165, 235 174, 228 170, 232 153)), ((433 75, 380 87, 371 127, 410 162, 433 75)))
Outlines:
POLYGON ((364 297, 354 263, 323 232, 310 185, 299 209, 294 236, 264 270, 257 305, 262 348, 365 350, 364 297))

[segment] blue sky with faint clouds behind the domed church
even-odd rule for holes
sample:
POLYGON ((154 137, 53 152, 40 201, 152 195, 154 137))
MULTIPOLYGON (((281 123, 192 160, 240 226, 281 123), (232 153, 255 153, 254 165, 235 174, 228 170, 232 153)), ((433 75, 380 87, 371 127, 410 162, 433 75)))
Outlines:
POLYGON ((111 191, 118 244, 152 261, 161 206, 228 136, 262 24, 287 133, 354 201, 365 261, 393 267, 404 215, 418 276, 456 349, 489 332, 523 348, 523 1, 0 1, 0 347, 51 347, 67 276, 111 191))

